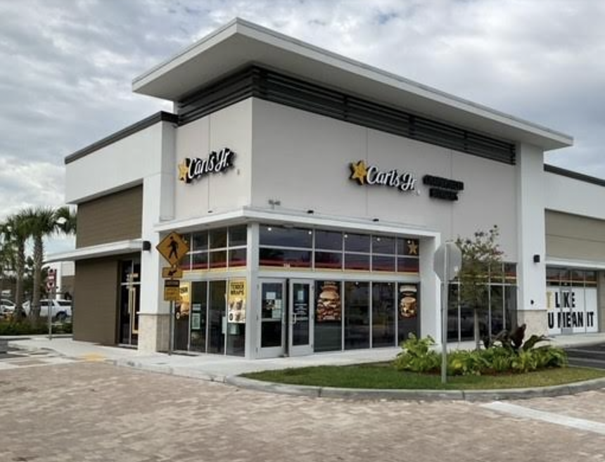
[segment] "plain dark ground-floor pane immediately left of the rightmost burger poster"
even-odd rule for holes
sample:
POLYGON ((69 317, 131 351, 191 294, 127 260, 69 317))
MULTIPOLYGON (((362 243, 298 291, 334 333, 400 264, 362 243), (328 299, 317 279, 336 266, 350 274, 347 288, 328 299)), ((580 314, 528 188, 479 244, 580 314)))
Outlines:
POLYGON ((372 283, 372 347, 395 346, 395 284, 372 283))

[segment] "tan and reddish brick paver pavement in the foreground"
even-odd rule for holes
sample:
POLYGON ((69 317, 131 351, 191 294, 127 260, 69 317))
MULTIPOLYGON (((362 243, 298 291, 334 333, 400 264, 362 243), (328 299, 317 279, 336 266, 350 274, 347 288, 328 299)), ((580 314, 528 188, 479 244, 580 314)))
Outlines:
MULTIPOLYGON (((515 403, 605 415, 604 392, 515 403)), ((467 402, 291 397, 75 362, 0 371, 0 461, 592 462, 605 435, 467 402)))

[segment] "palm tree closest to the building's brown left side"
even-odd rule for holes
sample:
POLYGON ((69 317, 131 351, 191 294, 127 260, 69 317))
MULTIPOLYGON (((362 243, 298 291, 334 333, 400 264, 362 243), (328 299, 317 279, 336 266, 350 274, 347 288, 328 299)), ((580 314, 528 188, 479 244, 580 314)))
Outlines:
POLYGON ((27 232, 34 240, 34 288, 30 315, 36 321, 40 314, 40 296, 42 295, 42 264, 44 263, 44 238, 54 233, 74 233, 75 214, 69 207, 53 209, 37 207, 24 212, 27 232))

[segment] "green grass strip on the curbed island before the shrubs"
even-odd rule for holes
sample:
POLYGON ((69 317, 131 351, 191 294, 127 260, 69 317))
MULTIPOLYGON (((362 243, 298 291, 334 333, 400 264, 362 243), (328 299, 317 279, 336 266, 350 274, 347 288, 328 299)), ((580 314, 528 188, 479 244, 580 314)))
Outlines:
POLYGON ((396 371, 390 363, 354 366, 317 366, 262 371, 243 377, 291 385, 319 387, 383 388, 404 390, 495 390, 500 388, 546 387, 605 377, 605 371, 591 368, 552 368, 526 374, 502 376, 448 377, 442 385, 440 375, 396 371))

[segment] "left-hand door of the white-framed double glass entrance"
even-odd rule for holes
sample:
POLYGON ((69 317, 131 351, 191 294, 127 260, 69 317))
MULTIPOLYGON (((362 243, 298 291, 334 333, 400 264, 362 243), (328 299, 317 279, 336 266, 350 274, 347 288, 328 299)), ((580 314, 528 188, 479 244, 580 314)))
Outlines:
POLYGON ((286 290, 283 280, 260 283, 260 357, 286 354, 286 290))

